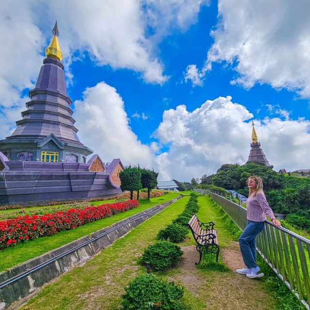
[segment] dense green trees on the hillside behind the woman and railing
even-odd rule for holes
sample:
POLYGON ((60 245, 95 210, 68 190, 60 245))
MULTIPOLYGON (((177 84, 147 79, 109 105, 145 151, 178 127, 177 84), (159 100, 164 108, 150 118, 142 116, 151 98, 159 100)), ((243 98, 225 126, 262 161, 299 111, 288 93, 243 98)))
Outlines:
MULTIPOLYGON (((310 178, 278 173, 261 163, 227 163, 223 164, 216 174, 205 174, 200 179, 193 178, 190 183, 183 183, 181 186, 202 189, 220 187, 222 190, 235 190, 248 196, 246 181, 253 175, 263 179, 263 190, 274 212, 289 214, 286 221, 294 226, 298 223, 298 228, 310 231, 310 178)), ((214 190, 221 191, 215 188, 214 190)))

